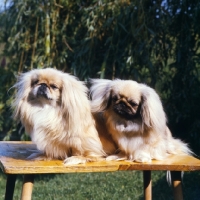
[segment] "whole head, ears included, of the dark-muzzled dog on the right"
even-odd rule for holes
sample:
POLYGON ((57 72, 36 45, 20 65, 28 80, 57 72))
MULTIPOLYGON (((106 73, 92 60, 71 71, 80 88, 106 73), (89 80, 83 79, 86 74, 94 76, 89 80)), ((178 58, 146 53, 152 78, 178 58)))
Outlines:
POLYGON ((158 94, 131 80, 92 80, 92 112, 103 112, 108 124, 122 124, 121 130, 165 127, 166 117, 158 94), (127 121, 127 122, 126 122, 127 121), (128 128, 127 124, 132 124, 128 128), (136 127, 136 124, 139 126, 136 127))

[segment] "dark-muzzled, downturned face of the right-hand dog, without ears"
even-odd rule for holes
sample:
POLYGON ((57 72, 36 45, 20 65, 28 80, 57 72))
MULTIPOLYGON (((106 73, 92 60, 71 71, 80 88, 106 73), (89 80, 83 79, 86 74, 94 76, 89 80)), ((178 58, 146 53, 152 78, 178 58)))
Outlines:
POLYGON ((108 107, 120 117, 131 120, 139 116, 141 100, 138 84, 123 82, 111 87, 108 107))

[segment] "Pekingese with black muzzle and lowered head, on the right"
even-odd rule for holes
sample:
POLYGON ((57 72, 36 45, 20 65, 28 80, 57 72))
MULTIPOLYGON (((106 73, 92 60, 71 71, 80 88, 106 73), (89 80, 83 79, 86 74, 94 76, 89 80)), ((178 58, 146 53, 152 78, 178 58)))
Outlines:
POLYGON ((172 137, 155 90, 131 80, 93 79, 91 84, 92 112, 107 160, 151 162, 192 153, 172 137))

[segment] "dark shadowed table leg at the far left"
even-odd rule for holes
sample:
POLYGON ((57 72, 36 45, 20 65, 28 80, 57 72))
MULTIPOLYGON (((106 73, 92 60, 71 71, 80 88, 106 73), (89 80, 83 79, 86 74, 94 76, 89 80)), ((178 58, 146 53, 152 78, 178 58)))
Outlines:
POLYGON ((7 174, 5 200, 12 200, 17 174, 7 174))

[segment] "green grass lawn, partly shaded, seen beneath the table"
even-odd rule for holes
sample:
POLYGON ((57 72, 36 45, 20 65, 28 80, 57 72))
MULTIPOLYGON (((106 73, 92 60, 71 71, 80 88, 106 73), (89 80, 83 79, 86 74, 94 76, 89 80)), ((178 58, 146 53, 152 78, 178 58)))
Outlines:
MULTIPOLYGON (((14 200, 20 199, 23 177, 16 181, 14 200)), ((173 192, 165 172, 152 172, 155 200, 171 200, 173 192)), ((0 173, 0 199, 4 199, 6 176, 0 173)), ((200 172, 186 172, 183 178, 184 200, 200 199, 200 172)), ((73 173, 37 175, 33 200, 142 200, 143 178, 140 171, 111 173, 73 173)))

